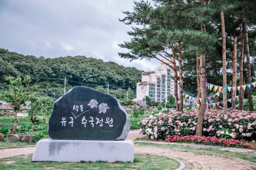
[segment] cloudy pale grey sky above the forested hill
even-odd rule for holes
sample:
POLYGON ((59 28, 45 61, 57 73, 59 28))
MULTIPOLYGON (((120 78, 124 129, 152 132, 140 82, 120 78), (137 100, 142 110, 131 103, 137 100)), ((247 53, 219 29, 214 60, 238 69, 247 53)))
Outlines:
MULTIPOLYGON (((153 71, 158 61, 122 59, 131 25, 118 21, 133 0, 0 0, 0 48, 54 58, 84 55, 153 71)), ((133 25, 136 26, 136 25, 133 25)))

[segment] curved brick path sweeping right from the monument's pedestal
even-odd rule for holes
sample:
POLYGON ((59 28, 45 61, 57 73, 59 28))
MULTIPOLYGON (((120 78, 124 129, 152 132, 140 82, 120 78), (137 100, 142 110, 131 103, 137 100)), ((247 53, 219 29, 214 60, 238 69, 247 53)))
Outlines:
POLYGON ((185 149, 157 146, 135 146, 135 152, 156 154, 178 159, 185 163, 185 169, 256 169, 256 165, 245 161, 208 153, 188 152, 185 149))

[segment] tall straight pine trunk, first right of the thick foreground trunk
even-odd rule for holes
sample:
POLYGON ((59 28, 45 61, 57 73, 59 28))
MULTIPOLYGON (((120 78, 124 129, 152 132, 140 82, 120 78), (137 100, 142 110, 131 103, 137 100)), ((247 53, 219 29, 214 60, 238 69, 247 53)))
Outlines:
MULTIPOLYGON (((221 10, 221 30, 222 30, 222 62, 223 62, 223 87, 227 87, 227 64, 226 64, 226 36, 223 10, 221 10)), ((223 110, 227 113, 227 90, 223 90, 223 110)))

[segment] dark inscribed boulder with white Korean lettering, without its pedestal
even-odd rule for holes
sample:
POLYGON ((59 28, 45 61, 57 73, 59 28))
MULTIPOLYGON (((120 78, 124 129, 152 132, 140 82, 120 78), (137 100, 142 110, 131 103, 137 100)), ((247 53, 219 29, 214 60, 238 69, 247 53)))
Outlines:
POLYGON ((51 139, 115 140, 123 133, 126 115, 113 96, 77 86, 54 103, 48 134, 51 139))

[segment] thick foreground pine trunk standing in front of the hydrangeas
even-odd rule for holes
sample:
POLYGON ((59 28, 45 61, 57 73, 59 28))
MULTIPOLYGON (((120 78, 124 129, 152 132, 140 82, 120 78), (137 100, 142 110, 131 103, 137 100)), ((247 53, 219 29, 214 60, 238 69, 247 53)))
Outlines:
MULTIPOLYGON (((205 1, 201 0, 201 5, 204 5, 205 1)), ((201 13, 203 15, 203 13, 201 13)), ((201 24, 201 30, 205 31, 205 24, 201 24)), ((205 65, 205 54, 200 55, 200 89, 201 89, 201 98, 202 102, 200 104, 200 110, 197 119, 197 126, 196 126, 196 135, 202 136, 203 135, 203 118, 205 116, 205 105, 206 105, 206 91, 205 91, 205 84, 206 84, 206 65, 205 65)))

